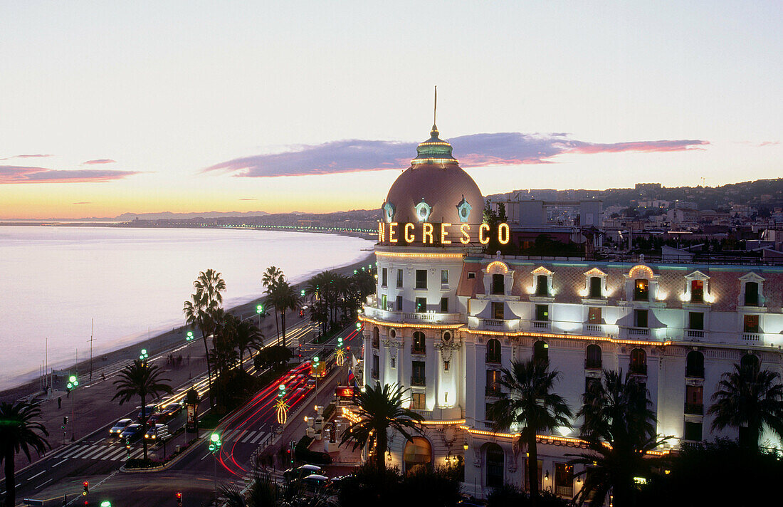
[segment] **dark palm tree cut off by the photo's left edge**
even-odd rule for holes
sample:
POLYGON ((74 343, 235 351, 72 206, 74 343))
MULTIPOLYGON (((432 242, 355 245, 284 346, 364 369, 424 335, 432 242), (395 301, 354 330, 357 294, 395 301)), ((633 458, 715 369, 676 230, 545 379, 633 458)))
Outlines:
POLYGON ((0 404, 0 463, 5 460, 5 505, 16 505, 16 480, 14 479, 14 457, 20 451, 32 461, 30 449, 43 454, 52 446, 44 436, 49 436, 44 425, 35 421, 41 417, 38 404, 19 402, 0 404), (42 433, 41 436, 38 433, 42 433))

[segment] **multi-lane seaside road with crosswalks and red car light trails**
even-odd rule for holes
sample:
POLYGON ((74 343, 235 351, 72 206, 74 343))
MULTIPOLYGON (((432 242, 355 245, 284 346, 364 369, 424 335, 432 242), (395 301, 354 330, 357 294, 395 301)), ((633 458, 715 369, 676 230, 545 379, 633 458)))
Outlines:
MULTIPOLYGON (((310 332, 309 324, 293 326, 287 331, 287 344, 296 345, 301 335, 310 332)), ((329 343, 303 347, 305 362, 281 375, 275 383, 257 393, 218 426, 217 431, 222 435, 222 447, 217 458, 208 450, 208 442, 200 440, 194 444, 196 447, 192 451, 164 472, 117 473, 127 460, 127 451, 123 442, 107 435, 109 426, 104 426, 78 444, 51 454, 18 473, 17 505, 23 505, 23 498, 44 499, 48 501, 45 505, 63 505, 63 494, 67 494, 67 505, 84 505, 81 496, 83 480, 88 480, 90 484, 90 493, 87 496, 89 505, 99 505, 103 500, 110 500, 112 505, 175 507, 175 491, 182 491, 183 505, 186 507, 204 505, 204 502, 211 501, 214 495, 215 476, 218 483, 242 483, 242 477, 251 468, 251 454, 258 447, 269 444, 273 435, 276 436, 272 429, 278 426, 275 401, 280 383, 286 383, 285 399, 291 413, 297 411, 305 401, 326 404, 332 400, 334 386, 337 384, 336 377, 326 386, 319 386, 318 393, 312 393, 313 389, 307 387, 309 359, 323 348, 334 348, 338 336, 342 337, 347 345, 353 345, 352 340, 356 335, 355 328, 351 326, 334 336, 329 343)), ((206 383, 205 375, 203 378, 197 378, 186 386, 181 386, 170 397, 161 400, 161 404, 178 402, 191 386, 196 386, 200 393, 205 393, 206 383)), ((128 417, 132 417, 133 412, 129 413, 128 417)), ((180 414, 170 423, 172 433, 182 424, 184 416, 180 414)), ((285 439, 292 438, 294 429, 304 433, 301 424, 290 421, 290 425, 276 441, 289 441, 285 439)), ((301 437, 301 434, 298 437, 301 437)), ((135 444, 132 448, 132 458, 141 454, 140 447, 135 444)))

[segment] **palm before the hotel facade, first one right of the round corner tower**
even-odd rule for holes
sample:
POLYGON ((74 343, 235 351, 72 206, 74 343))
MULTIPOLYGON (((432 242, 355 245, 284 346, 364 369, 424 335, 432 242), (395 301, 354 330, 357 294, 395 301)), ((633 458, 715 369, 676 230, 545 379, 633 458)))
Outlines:
POLYGON ((488 418, 493 429, 501 431, 518 426, 519 443, 528 447, 528 477, 530 498, 536 503, 538 491, 538 447, 536 434, 571 427, 571 409, 565 399, 553 393, 560 372, 550 371, 549 363, 541 360, 513 361, 511 370, 501 370, 500 386, 508 389, 503 399, 489 407, 488 418), (510 395, 510 396, 509 396, 510 395))

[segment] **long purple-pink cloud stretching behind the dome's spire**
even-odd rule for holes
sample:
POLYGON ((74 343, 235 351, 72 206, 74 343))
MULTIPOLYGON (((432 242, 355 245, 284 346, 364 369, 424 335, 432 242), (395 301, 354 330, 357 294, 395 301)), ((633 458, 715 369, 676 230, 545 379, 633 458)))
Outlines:
MULTIPOLYGON (((561 154, 621 152, 669 152, 703 149, 698 139, 587 143, 564 132, 523 134, 498 132, 449 139, 454 156, 463 167, 487 165, 551 164, 561 154)), ((375 171, 405 167, 416 153, 417 143, 348 139, 318 145, 300 145, 290 151, 261 154, 211 165, 204 172, 229 172, 234 176, 276 177, 375 171)))

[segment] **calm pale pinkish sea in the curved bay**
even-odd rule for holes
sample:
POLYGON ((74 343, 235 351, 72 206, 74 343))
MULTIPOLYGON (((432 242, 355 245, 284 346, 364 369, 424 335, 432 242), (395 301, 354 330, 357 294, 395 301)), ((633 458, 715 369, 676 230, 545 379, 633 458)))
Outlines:
POLYGON ((226 280, 224 306, 263 295, 263 271, 291 283, 358 262, 373 241, 247 229, 0 226, 0 389, 41 368, 120 349, 184 324, 198 273, 226 280))

